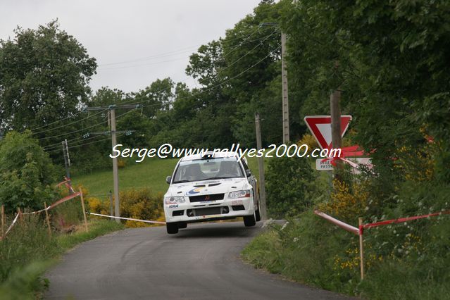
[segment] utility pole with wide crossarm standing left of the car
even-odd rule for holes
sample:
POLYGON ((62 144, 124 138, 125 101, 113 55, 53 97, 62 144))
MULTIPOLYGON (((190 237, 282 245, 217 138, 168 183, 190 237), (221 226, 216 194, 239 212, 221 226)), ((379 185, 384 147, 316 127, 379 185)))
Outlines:
MULTIPOLYGON (((117 131, 115 130, 115 109, 118 108, 138 108, 136 104, 125 105, 110 105, 106 107, 88 107, 88 111, 104 111, 109 110, 109 116, 111 121, 111 150, 117 144, 117 131)), ((113 158, 113 182, 114 182, 114 214, 116 217, 120 217, 120 199, 119 199, 119 173, 117 166, 117 157, 113 158)), ((120 223, 120 219, 115 219, 115 222, 120 223)))

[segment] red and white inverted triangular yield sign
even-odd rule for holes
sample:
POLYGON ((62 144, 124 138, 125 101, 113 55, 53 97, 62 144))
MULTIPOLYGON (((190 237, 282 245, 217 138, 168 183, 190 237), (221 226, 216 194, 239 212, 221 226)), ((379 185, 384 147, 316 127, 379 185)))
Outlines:
MULTIPOLYGON (((330 115, 306 115, 306 125, 315 137, 322 149, 331 149, 331 116, 330 115)), ((341 115, 341 133, 344 137, 351 115, 341 115)))

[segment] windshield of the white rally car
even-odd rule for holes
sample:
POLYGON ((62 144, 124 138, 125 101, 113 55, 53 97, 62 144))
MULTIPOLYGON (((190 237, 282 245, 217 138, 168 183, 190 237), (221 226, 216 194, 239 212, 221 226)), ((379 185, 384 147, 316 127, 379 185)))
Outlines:
POLYGON ((206 158, 182 161, 175 171, 173 183, 244 177, 237 158, 206 158))

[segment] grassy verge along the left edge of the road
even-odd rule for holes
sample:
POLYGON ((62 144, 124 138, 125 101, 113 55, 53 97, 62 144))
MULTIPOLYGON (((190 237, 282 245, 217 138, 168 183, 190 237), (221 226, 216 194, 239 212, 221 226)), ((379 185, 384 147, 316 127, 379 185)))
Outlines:
POLYGON ((49 237, 38 218, 17 225, 11 235, 0 242, 0 298, 40 298, 49 285, 42 274, 61 254, 81 242, 122 228, 123 225, 109 220, 91 220, 89 232, 80 227, 68 235, 49 237))

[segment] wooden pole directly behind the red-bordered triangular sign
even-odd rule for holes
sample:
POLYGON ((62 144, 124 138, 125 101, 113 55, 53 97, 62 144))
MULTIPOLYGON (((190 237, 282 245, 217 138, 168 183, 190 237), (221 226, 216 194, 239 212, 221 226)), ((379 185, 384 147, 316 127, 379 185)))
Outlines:
MULTIPOLYGON (((341 99, 341 91, 339 89, 332 92, 330 96, 330 111, 331 111, 331 140, 332 148, 342 148, 342 134, 341 134, 341 109, 339 108, 339 101, 341 99)), ((340 179, 339 173, 342 169, 342 161, 336 161, 335 177, 340 179)))

